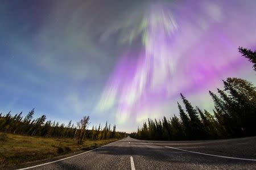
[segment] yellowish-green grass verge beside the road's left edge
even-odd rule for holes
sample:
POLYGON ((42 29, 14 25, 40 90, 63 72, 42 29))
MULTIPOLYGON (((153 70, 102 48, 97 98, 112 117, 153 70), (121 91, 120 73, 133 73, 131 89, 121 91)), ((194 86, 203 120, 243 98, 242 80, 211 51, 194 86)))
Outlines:
POLYGON ((54 159, 60 155, 91 150, 117 139, 85 140, 82 145, 71 138, 43 138, 0 133, 0 169, 20 168, 54 159))

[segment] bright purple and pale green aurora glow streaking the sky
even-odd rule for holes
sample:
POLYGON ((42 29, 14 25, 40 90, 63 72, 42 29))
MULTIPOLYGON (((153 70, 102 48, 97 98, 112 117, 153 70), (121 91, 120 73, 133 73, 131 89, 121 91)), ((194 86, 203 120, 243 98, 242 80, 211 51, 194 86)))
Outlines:
MULTIPOLYGON (((245 67, 237 47, 255 42, 252 29, 240 34, 246 28, 243 18, 256 13, 253 7, 241 1, 233 6, 221 1, 199 1, 194 5, 185 1, 182 6, 179 3, 152 2, 144 9, 141 22, 126 31, 127 41, 133 43, 136 36, 141 37, 143 48, 126 52, 119 59, 97 105, 98 111, 115 108, 119 123, 129 118, 137 122, 144 121, 142 117, 155 118, 167 114, 159 108, 177 100, 180 92, 200 94, 245 67), (239 29, 232 29, 234 26, 239 29)), ((256 28, 255 23, 250 24, 256 28)), ((205 105, 204 100, 200 103, 205 105)))

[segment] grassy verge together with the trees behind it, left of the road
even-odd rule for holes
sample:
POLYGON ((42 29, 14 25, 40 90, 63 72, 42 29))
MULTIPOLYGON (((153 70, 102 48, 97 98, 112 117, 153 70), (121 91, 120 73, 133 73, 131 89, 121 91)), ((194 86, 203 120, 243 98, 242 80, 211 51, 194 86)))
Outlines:
POLYGON ((76 125, 48 120, 43 115, 33 118, 32 109, 24 118, 22 112, 5 115, 0 113, 0 168, 20 167, 35 160, 51 159, 72 152, 91 150, 126 137, 108 122, 105 126, 88 129, 89 116, 76 125))

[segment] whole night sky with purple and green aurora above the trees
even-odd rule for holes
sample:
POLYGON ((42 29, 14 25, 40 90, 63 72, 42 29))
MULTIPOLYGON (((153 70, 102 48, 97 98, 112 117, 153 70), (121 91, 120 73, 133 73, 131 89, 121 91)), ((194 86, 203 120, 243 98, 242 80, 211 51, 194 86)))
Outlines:
POLYGON ((135 131, 177 116, 180 93, 212 111, 222 79, 256 84, 256 1, 1 1, 0 112, 135 131))

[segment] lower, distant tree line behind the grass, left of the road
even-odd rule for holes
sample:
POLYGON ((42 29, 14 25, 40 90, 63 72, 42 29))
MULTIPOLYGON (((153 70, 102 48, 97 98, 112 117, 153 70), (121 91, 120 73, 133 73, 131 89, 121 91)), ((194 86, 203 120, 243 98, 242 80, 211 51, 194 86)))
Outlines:
POLYGON ((81 144, 86 139, 102 140, 110 138, 123 138, 126 137, 125 132, 115 131, 115 125, 111 128, 110 124, 106 122, 105 127, 101 124, 93 126, 91 130, 88 129, 89 116, 83 117, 77 124, 69 121, 68 125, 60 124, 59 122, 47 120, 46 115, 39 118, 33 118, 35 109, 32 109, 23 118, 22 112, 11 114, 11 111, 5 115, 0 113, 0 131, 40 137, 66 137, 77 140, 81 144))

